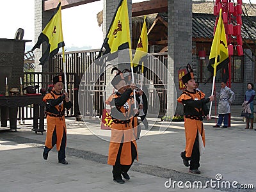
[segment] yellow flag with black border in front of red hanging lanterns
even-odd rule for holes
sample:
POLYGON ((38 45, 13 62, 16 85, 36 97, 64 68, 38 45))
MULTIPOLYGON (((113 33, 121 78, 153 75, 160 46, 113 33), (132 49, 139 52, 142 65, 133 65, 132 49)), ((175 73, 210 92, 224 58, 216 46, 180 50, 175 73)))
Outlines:
MULTIPOLYGON (((220 10, 220 17, 218 20, 217 28, 212 41, 211 52, 209 56, 208 70, 213 72, 216 76, 216 71, 220 68, 228 69, 228 44, 225 33, 225 27, 221 17, 222 9, 220 10)), ((228 74, 228 73, 227 73, 228 74)))

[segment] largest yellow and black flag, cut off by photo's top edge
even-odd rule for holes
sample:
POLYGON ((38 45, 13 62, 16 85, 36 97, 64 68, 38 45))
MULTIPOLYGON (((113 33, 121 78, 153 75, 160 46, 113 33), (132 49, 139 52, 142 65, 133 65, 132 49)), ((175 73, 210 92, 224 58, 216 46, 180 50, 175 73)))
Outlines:
MULTIPOLYGON (((117 57, 117 54, 115 54, 116 51, 122 49, 131 49, 127 0, 121 0, 118 4, 97 59, 99 59, 101 56, 104 56, 103 47, 105 47, 104 54, 111 53, 108 54, 106 61, 115 59, 117 57)), ((102 59, 104 58, 105 57, 102 59)), ((99 65, 103 64, 102 61, 98 61, 96 63, 99 65)))

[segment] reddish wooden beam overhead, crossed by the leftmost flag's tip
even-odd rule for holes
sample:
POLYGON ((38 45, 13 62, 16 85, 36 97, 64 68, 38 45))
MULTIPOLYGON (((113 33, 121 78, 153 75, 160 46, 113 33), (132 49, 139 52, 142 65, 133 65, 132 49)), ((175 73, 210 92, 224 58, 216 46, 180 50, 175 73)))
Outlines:
POLYGON ((44 1, 44 11, 54 10, 61 1, 61 9, 78 6, 81 4, 92 3, 100 0, 47 0, 44 1))

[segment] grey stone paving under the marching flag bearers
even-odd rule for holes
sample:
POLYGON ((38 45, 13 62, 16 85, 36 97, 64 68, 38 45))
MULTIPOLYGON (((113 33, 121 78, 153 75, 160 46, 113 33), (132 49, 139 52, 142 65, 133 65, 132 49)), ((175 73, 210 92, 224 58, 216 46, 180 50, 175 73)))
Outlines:
POLYGON ((99 120, 67 119, 68 165, 58 163, 55 148, 47 161, 42 159, 46 134, 31 131, 31 121, 18 125, 17 132, 1 129, 0 191, 255 191, 241 189, 243 184, 256 186, 256 131, 244 129, 243 118, 232 116, 232 127, 226 129, 213 128, 214 119, 204 121, 201 175, 189 173, 180 159, 185 146, 184 122, 148 120, 152 129, 141 132, 139 161, 132 165, 131 180, 125 184, 113 182, 112 167, 107 164, 110 131, 100 130, 99 120), (237 188, 225 188, 224 181, 237 188), (212 182, 212 187, 188 189, 193 182, 212 182))

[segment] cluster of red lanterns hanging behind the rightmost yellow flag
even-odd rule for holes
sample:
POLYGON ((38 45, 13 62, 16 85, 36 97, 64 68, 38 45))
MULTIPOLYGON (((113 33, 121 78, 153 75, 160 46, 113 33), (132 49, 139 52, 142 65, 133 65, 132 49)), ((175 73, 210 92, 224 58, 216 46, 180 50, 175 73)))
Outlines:
POLYGON ((231 0, 216 0, 214 4, 214 15, 216 16, 214 33, 217 28, 220 9, 222 8, 222 18, 225 26, 226 37, 228 42, 228 54, 234 54, 234 47, 237 49, 237 54, 243 56, 243 40, 241 36, 242 22, 242 0, 237 0, 234 5, 231 0))

